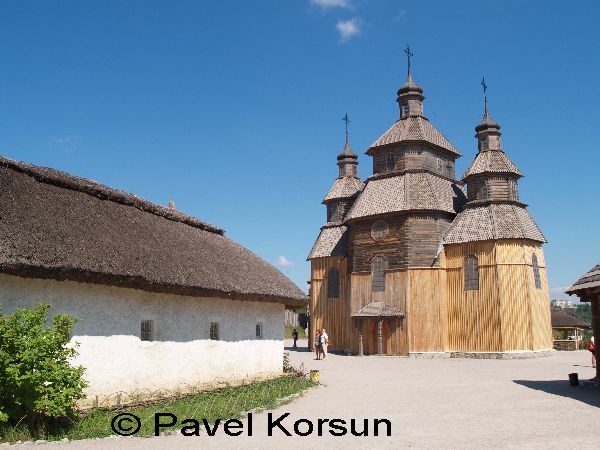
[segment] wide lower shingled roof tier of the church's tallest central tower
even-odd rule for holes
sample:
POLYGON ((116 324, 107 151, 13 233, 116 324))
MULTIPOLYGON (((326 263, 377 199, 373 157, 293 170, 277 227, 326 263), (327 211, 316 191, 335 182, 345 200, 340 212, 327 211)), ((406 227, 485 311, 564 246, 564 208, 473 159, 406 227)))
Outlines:
POLYGON ((368 180, 346 220, 400 211, 458 213, 465 203, 460 185, 429 172, 368 180))

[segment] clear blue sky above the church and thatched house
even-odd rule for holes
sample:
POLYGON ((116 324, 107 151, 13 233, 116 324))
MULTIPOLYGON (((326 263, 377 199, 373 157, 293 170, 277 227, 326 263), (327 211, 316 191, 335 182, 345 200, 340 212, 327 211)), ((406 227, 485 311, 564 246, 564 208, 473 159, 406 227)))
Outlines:
POLYGON ((600 262, 599 16, 595 1, 4 0, 0 153, 173 199, 306 288, 341 117, 365 178, 409 43, 458 175, 485 75, 559 297, 600 262))

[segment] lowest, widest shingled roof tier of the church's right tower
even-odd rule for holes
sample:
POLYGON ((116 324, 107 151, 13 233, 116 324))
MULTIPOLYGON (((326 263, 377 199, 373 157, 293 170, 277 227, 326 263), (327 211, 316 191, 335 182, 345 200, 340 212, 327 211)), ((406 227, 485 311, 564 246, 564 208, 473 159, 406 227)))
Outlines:
POLYGON ((444 244, 494 239, 531 239, 546 242, 544 235, 520 205, 499 203, 467 207, 452 222, 444 244))

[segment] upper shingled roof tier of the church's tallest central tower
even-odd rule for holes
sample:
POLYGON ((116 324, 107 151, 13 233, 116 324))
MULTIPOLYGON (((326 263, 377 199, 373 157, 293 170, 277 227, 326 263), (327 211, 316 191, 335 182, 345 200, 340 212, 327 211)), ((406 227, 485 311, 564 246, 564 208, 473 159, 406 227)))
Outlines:
POLYGON ((371 147, 367 150, 367 154, 370 155, 371 149, 376 147, 404 141, 428 142, 447 150, 456 156, 460 156, 460 153, 454 148, 450 141, 448 141, 448 139, 446 139, 446 137, 423 116, 413 116, 398 120, 383 134, 383 136, 371 144, 371 147))

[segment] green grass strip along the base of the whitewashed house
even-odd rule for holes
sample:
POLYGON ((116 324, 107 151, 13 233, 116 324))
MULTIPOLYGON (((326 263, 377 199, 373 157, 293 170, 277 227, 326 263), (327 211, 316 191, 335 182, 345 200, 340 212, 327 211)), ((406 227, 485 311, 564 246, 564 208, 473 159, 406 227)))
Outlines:
MULTIPOLYGON (((23 424, 15 426, 0 423, 0 443, 110 436, 115 434, 111 429, 111 420, 121 412, 135 414, 140 418, 142 427, 135 436, 153 436, 155 412, 170 412, 175 414, 179 421, 186 418, 199 421, 206 419, 212 424, 217 419, 242 418, 244 413, 250 410, 273 409, 286 397, 313 386, 315 384, 303 376, 283 375, 273 380, 227 387, 143 406, 123 407, 118 410, 97 408, 76 418, 63 418, 53 423, 42 424, 36 430, 31 430, 23 424)), ((173 430, 179 428, 176 426, 173 430)))

